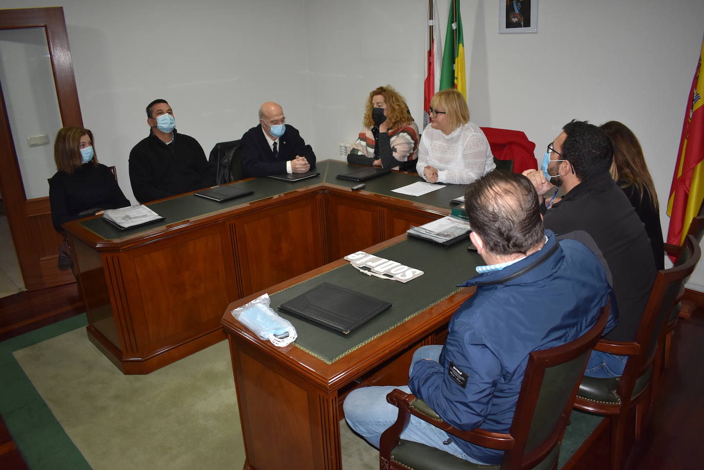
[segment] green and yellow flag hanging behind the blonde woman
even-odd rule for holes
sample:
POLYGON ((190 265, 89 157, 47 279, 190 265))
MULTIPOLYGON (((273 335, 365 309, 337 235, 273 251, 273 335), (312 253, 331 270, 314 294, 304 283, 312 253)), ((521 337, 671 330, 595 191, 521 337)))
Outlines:
POLYGON ((442 58, 440 89, 456 88, 467 99, 465 80, 465 39, 462 35, 460 0, 450 0, 450 13, 445 33, 445 51, 442 58))

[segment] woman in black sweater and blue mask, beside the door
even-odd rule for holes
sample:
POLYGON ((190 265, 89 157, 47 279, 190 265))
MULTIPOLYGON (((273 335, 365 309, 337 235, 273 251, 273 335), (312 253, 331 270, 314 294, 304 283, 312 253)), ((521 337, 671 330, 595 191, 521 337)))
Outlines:
POLYGON ((110 168, 98 163, 90 130, 59 130, 54 161, 58 171, 49 180, 49 202, 51 222, 58 232, 63 233, 65 222, 130 205, 110 168))

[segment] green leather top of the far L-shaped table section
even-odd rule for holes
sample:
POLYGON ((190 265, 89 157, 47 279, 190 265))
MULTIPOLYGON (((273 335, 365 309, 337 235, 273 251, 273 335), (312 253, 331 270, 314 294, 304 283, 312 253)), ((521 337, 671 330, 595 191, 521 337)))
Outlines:
MULTIPOLYGON (((347 173, 358 169, 358 166, 348 165, 343 161, 326 160, 321 161, 315 166, 315 171, 319 171, 320 175, 314 178, 308 178, 297 182, 287 182, 274 180, 272 178, 256 178, 249 181, 240 181, 233 183, 234 186, 242 190, 251 190, 253 194, 245 197, 239 197, 226 202, 216 202, 203 197, 195 196, 194 194, 184 194, 180 197, 175 197, 161 202, 153 202, 146 204, 150 209, 155 211, 165 219, 160 222, 155 222, 149 225, 131 228, 128 230, 118 230, 112 225, 102 220, 102 217, 90 218, 87 221, 80 222, 84 228, 91 230, 93 233, 105 240, 118 240, 120 238, 129 238, 134 235, 139 235, 145 231, 161 228, 165 225, 187 221, 191 218, 207 216, 217 212, 227 211, 234 207, 243 206, 249 202, 255 202, 260 199, 276 196, 291 190, 297 190, 304 187, 318 185, 320 183, 328 183, 339 185, 342 187, 353 187, 359 183, 356 181, 342 180, 337 178, 340 173, 347 173)), ((406 194, 398 194, 392 192, 401 186, 410 185, 417 181, 422 181, 416 175, 408 175, 406 173, 392 172, 388 175, 381 176, 365 182, 367 187, 365 191, 375 194, 383 194, 384 196, 395 197, 406 201, 420 202, 436 207, 450 208, 450 199, 458 197, 464 193, 465 185, 446 185, 440 190, 424 194, 420 197, 408 196, 406 194)))

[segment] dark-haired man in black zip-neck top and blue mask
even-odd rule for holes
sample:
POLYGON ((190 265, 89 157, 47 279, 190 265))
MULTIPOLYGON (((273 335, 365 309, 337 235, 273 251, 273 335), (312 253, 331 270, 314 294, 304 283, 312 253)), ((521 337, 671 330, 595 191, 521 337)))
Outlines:
POLYGON ((130 183, 139 202, 199 190, 215 184, 215 171, 193 137, 177 134, 171 106, 155 99, 146 107, 151 130, 130 151, 130 183))

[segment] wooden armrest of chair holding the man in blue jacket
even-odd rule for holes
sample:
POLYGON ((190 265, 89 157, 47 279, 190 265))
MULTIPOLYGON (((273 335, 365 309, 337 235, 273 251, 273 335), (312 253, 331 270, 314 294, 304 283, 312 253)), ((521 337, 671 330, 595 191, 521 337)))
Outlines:
POLYGON ((440 416, 428 406, 422 399, 402 392, 398 388, 391 390, 389 395, 386 395, 386 401, 398 407, 398 423, 401 420, 401 413, 408 412, 417 418, 422 419, 426 423, 432 424, 436 428, 442 429, 448 434, 454 435, 463 440, 467 440, 472 444, 489 447, 491 449, 509 450, 513 448, 513 437, 509 434, 494 433, 484 431, 484 429, 475 428, 472 431, 462 431, 455 428, 449 423, 442 421, 440 416))

